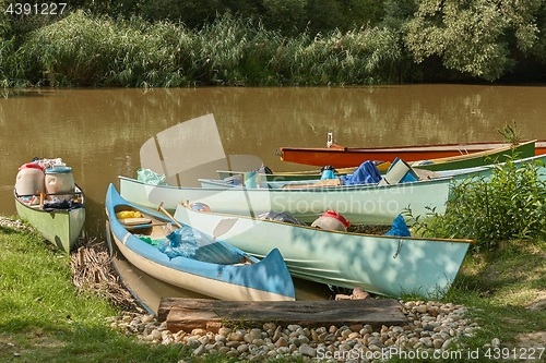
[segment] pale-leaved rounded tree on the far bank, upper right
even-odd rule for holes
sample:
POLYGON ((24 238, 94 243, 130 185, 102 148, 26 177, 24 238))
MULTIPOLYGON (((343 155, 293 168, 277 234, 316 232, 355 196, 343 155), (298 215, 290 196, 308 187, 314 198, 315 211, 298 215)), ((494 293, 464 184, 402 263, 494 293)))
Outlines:
MULTIPOLYGON (((496 81, 537 46, 542 0, 423 0, 404 25, 416 62, 439 57, 450 70, 496 81)), ((537 50, 537 49, 534 49, 537 50)))

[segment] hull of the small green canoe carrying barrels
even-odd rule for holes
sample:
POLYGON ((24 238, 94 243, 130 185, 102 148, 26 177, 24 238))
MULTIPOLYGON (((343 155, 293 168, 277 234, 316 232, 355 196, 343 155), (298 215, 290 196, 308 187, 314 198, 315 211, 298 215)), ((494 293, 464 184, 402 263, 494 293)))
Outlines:
MULTIPOLYGON (((14 192, 17 215, 28 221, 47 241, 70 253, 85 222, 85 207, 45 211, 23 204, 14 192)), ((83 197, 83 193, 82 193, 83 197)))

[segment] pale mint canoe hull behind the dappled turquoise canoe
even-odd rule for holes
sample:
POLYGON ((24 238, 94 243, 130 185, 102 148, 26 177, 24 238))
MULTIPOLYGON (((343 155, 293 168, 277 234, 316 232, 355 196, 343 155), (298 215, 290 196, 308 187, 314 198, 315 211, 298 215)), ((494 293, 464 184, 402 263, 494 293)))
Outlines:
POLYGON ((212 210, 241 216, 268 211, 312 222, 332 209, 352 223, 390 225, 411 207, 414 216, 446 210, 451 178, 392 185, 342 185, 308 189, 158 186, 119 177, 120 194, 134 204, 175 210, 179 203, 205 203, 212 210))

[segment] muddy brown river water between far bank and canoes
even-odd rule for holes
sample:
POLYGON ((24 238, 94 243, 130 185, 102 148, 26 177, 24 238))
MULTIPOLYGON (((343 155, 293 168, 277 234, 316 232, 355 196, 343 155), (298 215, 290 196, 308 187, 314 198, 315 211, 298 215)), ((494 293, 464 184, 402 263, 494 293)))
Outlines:
MULTIPOLYGON (((87 197, 88 234, 104 238, 104 198, 136 177, 142 145, 212 113, 225 155, 254 155, 273 171, 306 170, 280 146, 392 146, 501 141, 515 122, 546 140, 546 86, 403 85, 358 88, 25 89, 0 93, 0 214, 13 216, 17 168, 60 157, 87 197)), ((202 137, 190 141, 200 146, 202 137)), ((186 145, 188 146, 188 145, 186 145)))

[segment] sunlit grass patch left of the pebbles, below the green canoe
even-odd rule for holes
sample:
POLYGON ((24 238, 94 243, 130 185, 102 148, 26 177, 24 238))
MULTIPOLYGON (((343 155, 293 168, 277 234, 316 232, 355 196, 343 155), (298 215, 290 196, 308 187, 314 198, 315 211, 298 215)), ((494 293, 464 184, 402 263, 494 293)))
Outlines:
POLYGON ((79 292, 70 258, 32 232, 0 227, 1 362, 177 362, 180 346, 149 347, 105 323, 117 311, 79 292))

